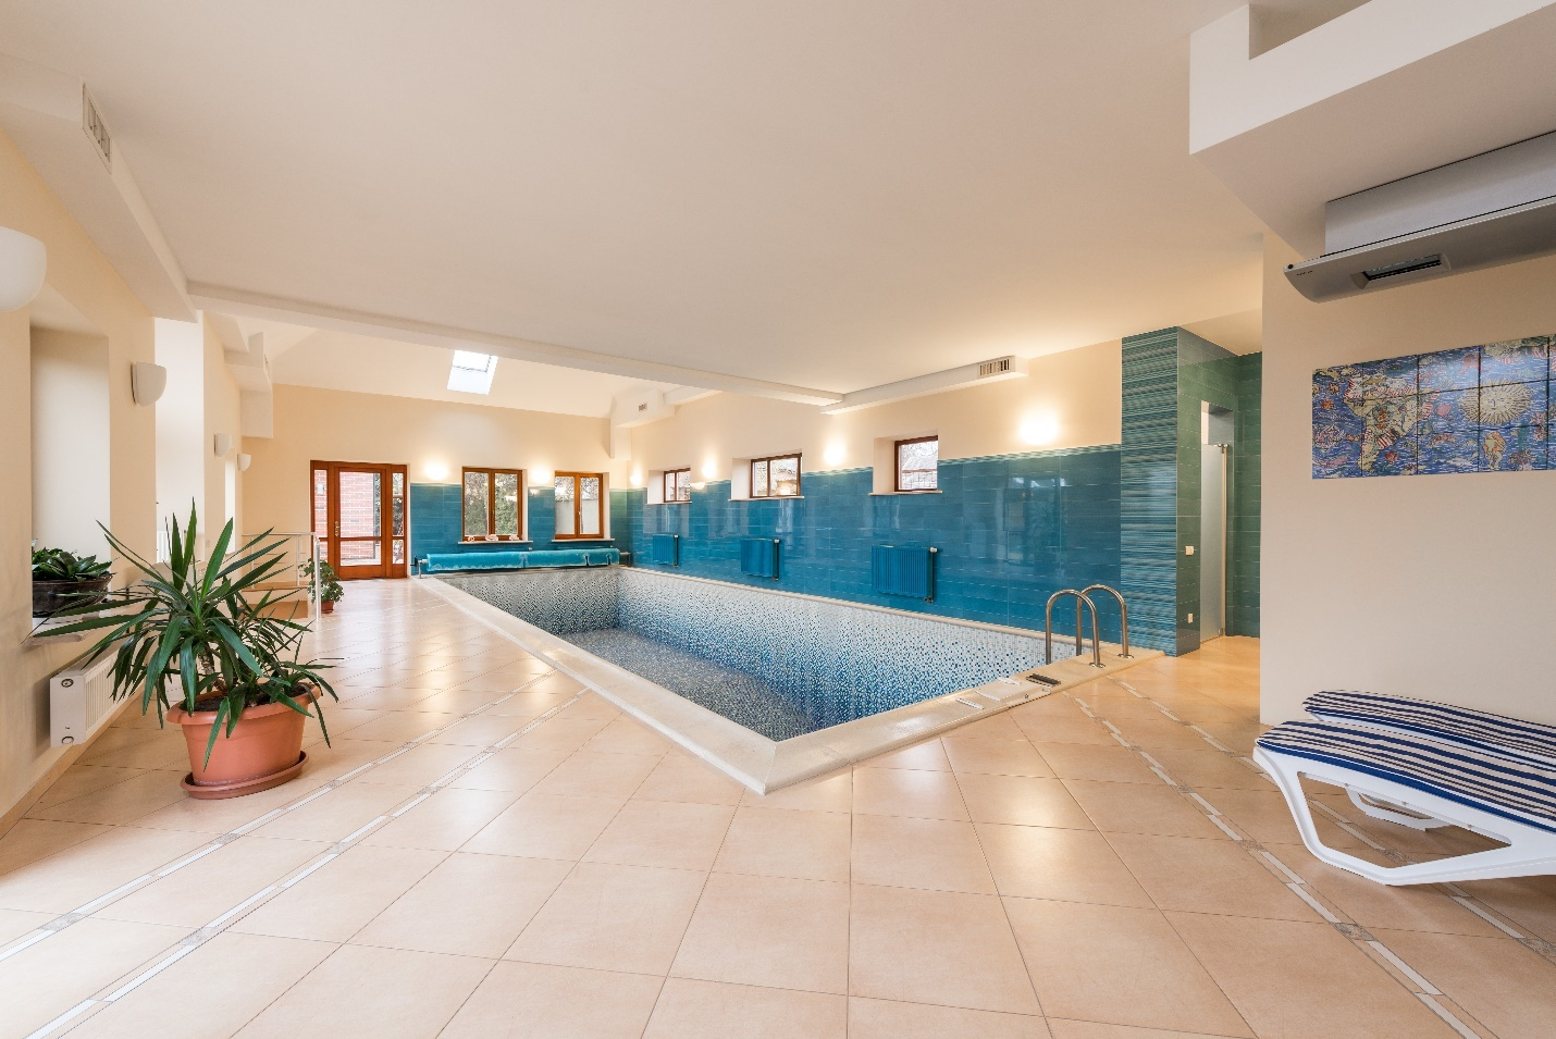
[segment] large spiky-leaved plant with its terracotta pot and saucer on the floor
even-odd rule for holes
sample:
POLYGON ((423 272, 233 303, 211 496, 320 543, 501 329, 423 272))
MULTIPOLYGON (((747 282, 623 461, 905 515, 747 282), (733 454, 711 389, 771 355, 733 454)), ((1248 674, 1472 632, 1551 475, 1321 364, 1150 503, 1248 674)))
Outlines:
MULTIPOLYGON (((302 659, 308 625, 268 610, 297 591, 265 593, 257 602, 247 597, 289 565, 283 543, 261 533, 229 552, 229 521, 201 565, 196 523, 193 509, 185 530, 171 521, 165 572, 104 529, 114 551, 140 571, 140 580, 115 600, 128 613, 82 619, 48 635, 104 631, 87 663, 115 653, 114 698, 138 695, 142 712, 156 705, 159 722, 168 717, 184 726, 185 790, 196 798, 233 798, 302 771, 303 722, 317 717, 324 729, 321 700, 335 697, 335 689, 319 673, 330 664, 302 659)), ((84 607, 73 607, 61 616, 81 613, 84 607)), ((330 742, 328 729, 324 739, 330 742)))

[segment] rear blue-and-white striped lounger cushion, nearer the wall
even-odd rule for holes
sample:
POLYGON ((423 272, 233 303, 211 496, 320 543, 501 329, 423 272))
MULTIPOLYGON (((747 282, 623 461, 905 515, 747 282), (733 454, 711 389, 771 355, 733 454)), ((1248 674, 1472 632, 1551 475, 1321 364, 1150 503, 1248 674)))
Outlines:
POLYGON ((1302 706, 1316 719, 1383 725, 1446 743, 1526 754, 1542 764, 1556 764, 1556 726, 1505 714, 1372 692, 1319 692, 1302 706))

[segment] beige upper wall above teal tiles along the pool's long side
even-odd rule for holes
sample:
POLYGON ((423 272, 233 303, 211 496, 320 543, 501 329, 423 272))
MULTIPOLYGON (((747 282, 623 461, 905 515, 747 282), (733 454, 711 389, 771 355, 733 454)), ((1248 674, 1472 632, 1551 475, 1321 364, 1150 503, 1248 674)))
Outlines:
POLYGON ((804 453, 804 471, 868 467, 878 437, 937 432, 944 459, 1119 443, 1120 380, 1122 352, 1114 341, 1033 358, 1027 378, 842 415, 719 394, 635 429, 632 460, 640 479, 688 465, 692 479, 728 479, 731 459, 795 450, 804 453), (1025 443, 1022 422, 1044 418, 1058 423, 1057 439, 1041 448, 1025 443), (828 460, 829 448, 834 460, 828 460))

